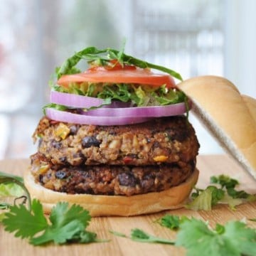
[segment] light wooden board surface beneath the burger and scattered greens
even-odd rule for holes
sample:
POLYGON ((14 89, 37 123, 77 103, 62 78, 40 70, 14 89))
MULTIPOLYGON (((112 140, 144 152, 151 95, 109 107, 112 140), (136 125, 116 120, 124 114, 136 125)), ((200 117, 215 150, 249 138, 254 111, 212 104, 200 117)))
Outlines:
MULTIPOLYGON (((22 175, 28 164, 29 161, 27 159, 3 160, 0 161, 0 171, 22 175)), ((233 159, 230 159, 229 156, 199 156, 198 169, 201 171, 197 185, 199 188, 208 186, 210 176, 227 174, 240 181, 241 189, 250 193, 256 193, 256 181, 247 172, 242 170, 233 159)), ((48 245, 34 247, 29 245, 27 240, 15 238, 13 234, 7 233, 0 225, 0 255, 185 255, 186 251, 181 247, 134 242, 127 238, 116 237, 109 232, 109 230, 114 230, 129 235, 132 228, 142 228, 152 235, 174 240, 175 232, 154 223, 154 220, 161 218, 165 213, 194 216, 195 218, 208 220, 210 225, 214 227, 215 223, 225 224, 228 220, 256 218, 256 202, 242 204, 235 211, 230 210, 228 206, 218 205, 211 211, 193 211, 181 208, 138 217, 92 218, 88 230, 97 233, 98 238, 110 239, 110 242, 99 242, 88 245, 48 245)), ((248 224, 250 227, 256 228, 256 223, 248 221, 248 224)))

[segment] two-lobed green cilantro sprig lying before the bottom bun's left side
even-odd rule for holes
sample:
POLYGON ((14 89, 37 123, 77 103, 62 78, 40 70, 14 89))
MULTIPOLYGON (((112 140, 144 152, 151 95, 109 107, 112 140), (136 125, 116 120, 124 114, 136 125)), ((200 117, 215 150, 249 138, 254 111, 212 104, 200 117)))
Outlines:
POLYGON ((16 232, 16 237, 29 238, 32 245, 98 242, 95 233, 85 230, 90 219, 89 212, 81 206, 69 207, 68 203, 60 202, 51 210, 48 223, 42 204, 34 199, 31 210, 23 205, 11 206, 2 223, 6 231, 16 232))

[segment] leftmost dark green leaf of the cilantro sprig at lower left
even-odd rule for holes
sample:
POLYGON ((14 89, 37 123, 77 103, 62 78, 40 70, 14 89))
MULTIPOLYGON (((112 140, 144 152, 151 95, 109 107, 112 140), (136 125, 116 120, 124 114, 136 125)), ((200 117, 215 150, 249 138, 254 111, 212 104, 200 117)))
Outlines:
POLYGON ((10 206, 10 210, 5 213, 2 223, 6 231, 16 232, 15 236, 21 238, 31 238, 48 225, 43 215, 43 206, 37 200, 33 200, 31 211, 23 205, 10 206))

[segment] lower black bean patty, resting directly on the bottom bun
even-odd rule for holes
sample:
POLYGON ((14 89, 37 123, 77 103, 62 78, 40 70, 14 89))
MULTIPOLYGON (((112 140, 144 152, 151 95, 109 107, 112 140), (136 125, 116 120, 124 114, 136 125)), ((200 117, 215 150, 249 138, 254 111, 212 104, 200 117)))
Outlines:
POLYGON ((195 164, 189 161, 154 166, 62 166, 53 165, 40 153, 31 156, 31 172, 45 188, 108 196, 164 191, 191 176, 195 164))

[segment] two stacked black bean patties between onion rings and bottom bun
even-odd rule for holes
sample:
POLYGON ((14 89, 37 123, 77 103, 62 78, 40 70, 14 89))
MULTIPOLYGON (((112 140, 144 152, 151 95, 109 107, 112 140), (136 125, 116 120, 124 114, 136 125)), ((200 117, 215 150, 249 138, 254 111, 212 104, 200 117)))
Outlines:
POLYGON ((191 176, 199 144, 185 116, 96 126, 43 117, 31 172, 53 191, 124 195, 164 191, 191 176))

